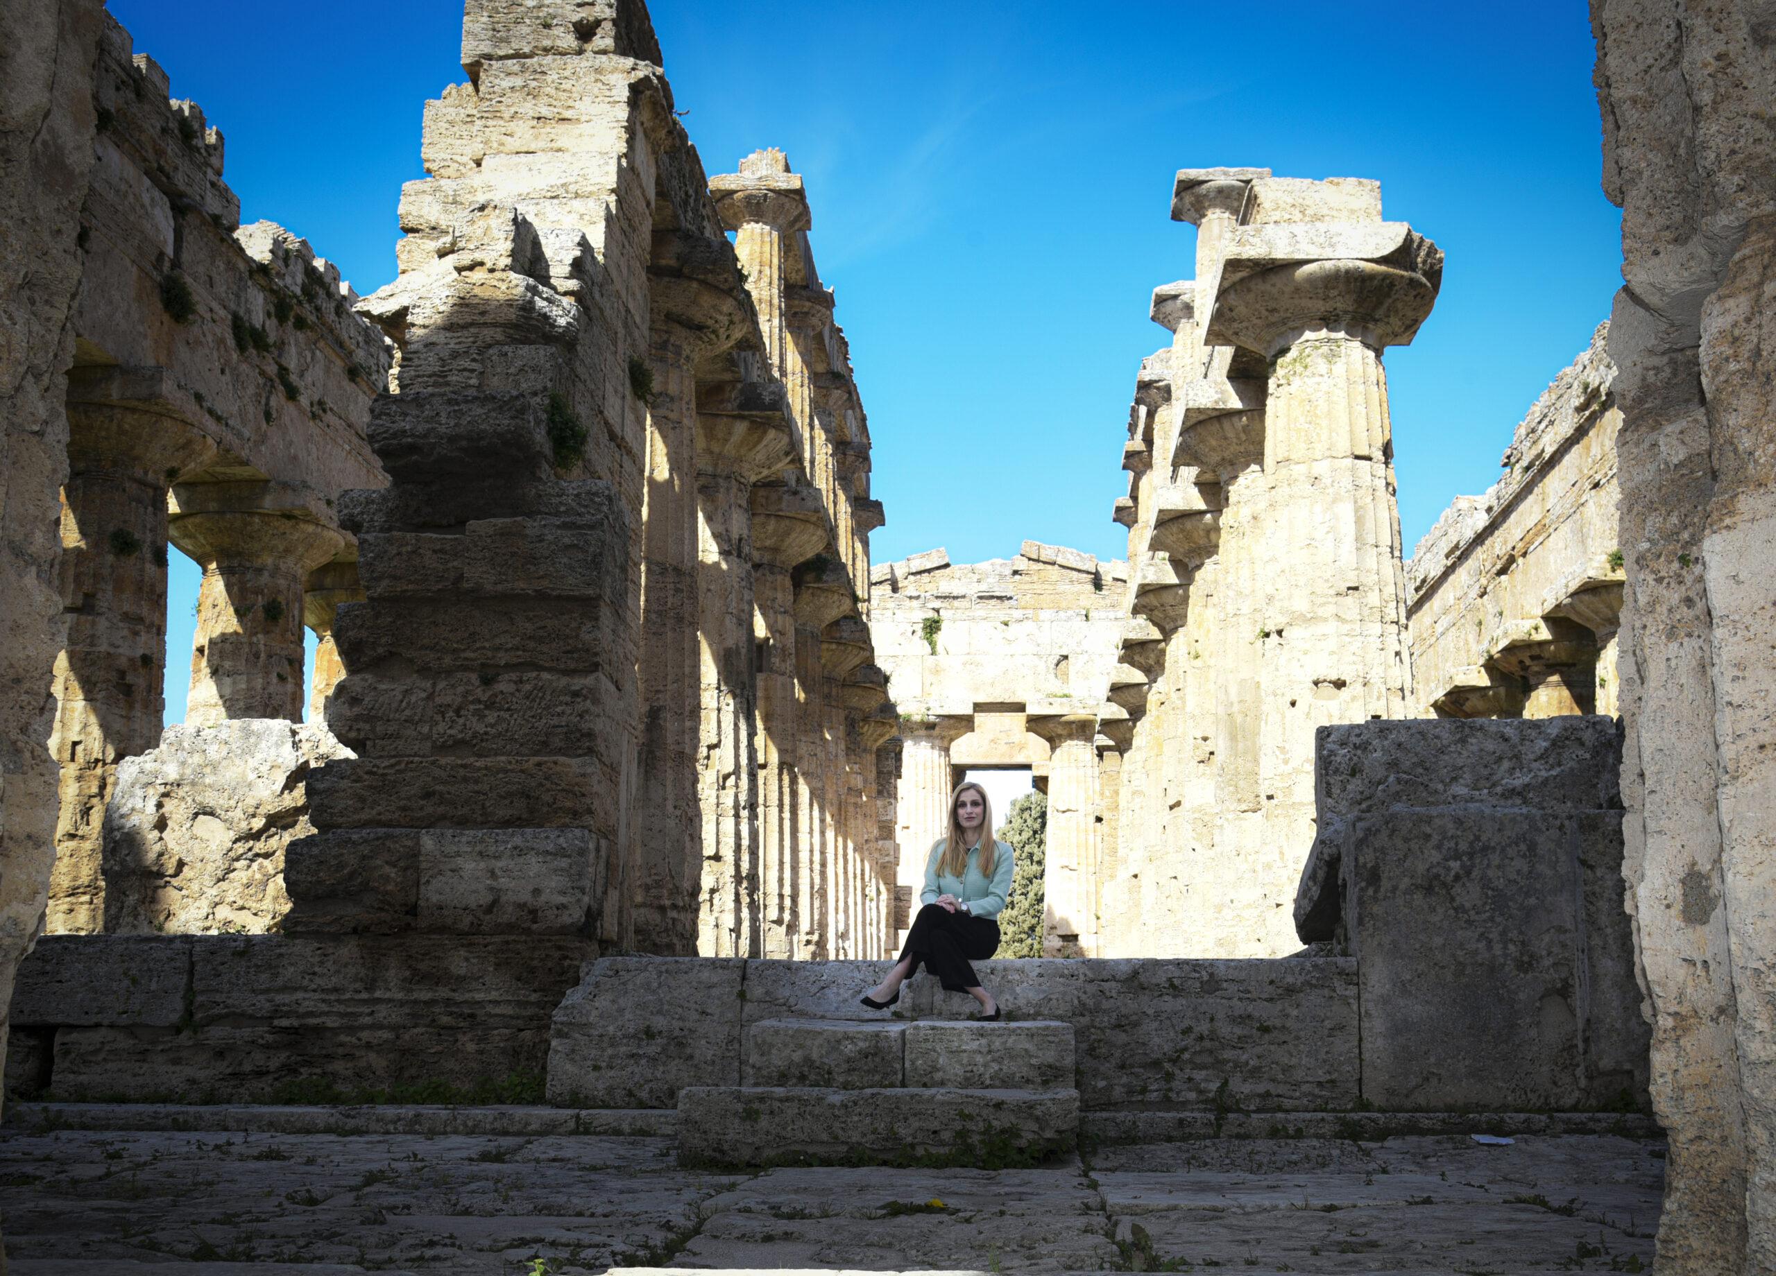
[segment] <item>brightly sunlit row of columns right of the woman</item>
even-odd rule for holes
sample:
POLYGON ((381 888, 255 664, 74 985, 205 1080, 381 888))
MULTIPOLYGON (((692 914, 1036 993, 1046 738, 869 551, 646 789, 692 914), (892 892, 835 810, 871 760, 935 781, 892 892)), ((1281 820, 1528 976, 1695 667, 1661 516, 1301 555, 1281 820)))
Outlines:
POLYGON ((1375 183, 1185 170, 1172 213, 1197 273, 1154 295, 1174 339, 1124 461, 1130 724, 1099 949, 1273 957, 1298 946, 1316 728, 1407 713, 1382 350, 1430 312, 1442 257, 1380 220, 1375 183))

